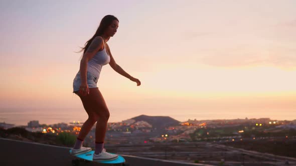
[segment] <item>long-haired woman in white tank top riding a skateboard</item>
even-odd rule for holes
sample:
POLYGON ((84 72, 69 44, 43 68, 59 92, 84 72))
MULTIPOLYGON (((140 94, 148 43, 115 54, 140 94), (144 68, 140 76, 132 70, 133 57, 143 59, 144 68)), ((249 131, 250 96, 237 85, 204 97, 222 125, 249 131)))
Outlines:
POLYGON ((96 33, 85 43, 85 47, 82 48, 84 51, 80 62, 80 69, 73 81, 73 92, 80 97, 83 107, 88 114, 88 119, 83 123, 71 153, 78 155, 91 151, 90 147, 83 147, 82 143, 94 123, 97 122, 95 153, 93 154, 94 161, 113 160, 118 157, 116 154, 106 152, 103 148, 107 121, 110 114, 96 84, 102 66, 109 63, 116 72, 136 82, 137 86, 141 84, 137 78, 130 76, 116 64, 110 48, 106 43, 116 33, 118 23, 119 20, 113 15, 106 15, 102 18, 96 33))

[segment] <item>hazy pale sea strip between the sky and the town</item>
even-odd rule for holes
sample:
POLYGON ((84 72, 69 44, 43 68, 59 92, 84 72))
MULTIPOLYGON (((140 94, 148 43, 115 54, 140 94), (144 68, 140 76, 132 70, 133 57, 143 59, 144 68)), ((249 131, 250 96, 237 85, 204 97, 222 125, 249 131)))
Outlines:
MULTIPOLYGON (((179 121, 188 119, 236 119, 269 117, 273 120, 296 119, 296 111, 199 111, 190 109, 163 108, 109 108, 108 122, 120 122, 141 114, 151 116, 170 116, 179 121)), ((27 125, 31 120, 39 120, 40 124, 69 123, 73 121, 84 122, 87 113, 83 108, 0 108, 0 122, 15 125, 27 125)))

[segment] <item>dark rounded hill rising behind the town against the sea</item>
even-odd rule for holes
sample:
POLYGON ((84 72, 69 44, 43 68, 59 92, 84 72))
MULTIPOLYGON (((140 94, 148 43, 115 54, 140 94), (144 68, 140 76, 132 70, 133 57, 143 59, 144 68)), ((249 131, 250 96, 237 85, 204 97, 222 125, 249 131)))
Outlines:
POLYGON ((139 115, 136 117, 132 117, 131 119, 134 119, 135 121, 146 121, 150 123, 154 128, 164 129, 168 126, 176 126, 180 125, 180 121, 173 119, 170 116, 147 116, 147 115, 139 115))

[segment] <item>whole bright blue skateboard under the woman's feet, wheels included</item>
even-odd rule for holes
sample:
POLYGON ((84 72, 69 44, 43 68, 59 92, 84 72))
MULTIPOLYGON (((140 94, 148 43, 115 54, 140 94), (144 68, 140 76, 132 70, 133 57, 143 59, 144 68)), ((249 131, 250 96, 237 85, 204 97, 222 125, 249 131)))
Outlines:
MULTIPOLYGON (((71 149, 70 149, 70 153, 71 153, 71 149)), ((72 165, 73 166, 79 165, 80 161, 84 161, 84 162, 93 161, 92 160, 93 153, 94 153, 94 150, 83 153, 83 154, 74 155, 75 157, 77 157, 77 159, 72 160, 72 165)), ((114 154, 114 153, 111 153, 111 154, 114 154)), ((110 165, 115 165, 115 164, 117 165, 121 163, 122 166, 128 166, 128 164, 125 163, 125 159, 121 155, 118 155, 118 158, 114 160, 109 160, 109 161, 102 160, 102 161, 94 161, 94 162, 105 163, 110 165)))

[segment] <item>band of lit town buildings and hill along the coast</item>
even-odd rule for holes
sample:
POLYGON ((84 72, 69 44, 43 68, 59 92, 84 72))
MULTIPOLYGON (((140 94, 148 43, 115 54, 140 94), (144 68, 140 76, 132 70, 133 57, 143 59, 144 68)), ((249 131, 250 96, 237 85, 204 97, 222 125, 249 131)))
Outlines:
MULTIPOLYGON (((77 135, 83 122, 40 124, 38 120, 28 122, 21 126, 31 132, 56 134, 70 132, 77 135)), ((2 128, 15 127, 14 124, 0 123, 2 128)), ((149 142, 190 142, 195 140, 239 141, 243 139, 267 139, 268 133, 283 129, 296 129, 295 120, 273 120, 270 118, 245 119, 216 119, 196 120, 188 119, 180 122, 168 116, 140 115, 121 122, 108 123, 106 141, 108 143, 149 143, 149 142), (227 128, 227 129, 223 129, 227 128), (262 135, 258 134, 262 131, 262 135), (132 136, 132 137, 130 137, 132 136)), ((88 134, 94 141, 95 125, 88 134)), ((270 135, 270 134, 269 134, 270 135)), ((282 134, 280 137, 288 138, 282 134)))

